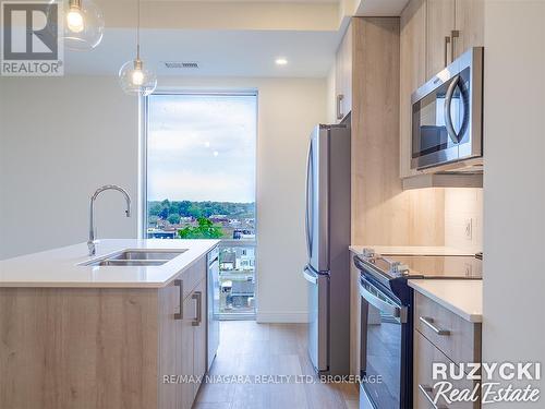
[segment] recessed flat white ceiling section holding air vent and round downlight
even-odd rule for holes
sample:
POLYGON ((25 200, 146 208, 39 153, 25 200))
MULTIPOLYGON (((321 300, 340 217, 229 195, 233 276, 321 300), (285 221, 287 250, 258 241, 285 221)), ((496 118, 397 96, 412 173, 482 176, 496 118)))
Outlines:
MULTIPOLYGON (((142 58, 159 75, 324 77, 332 61, 337 32, 157 31, 142 33, 142 58), (275 60, 283 57, 287 65, 275 60), (198 70, 167 70, 164 61, 196 61, 198 70)), ((65 52, 68 74, 117 74, 134 59, 131 29, 108 29, 90 52, 65 52)))

